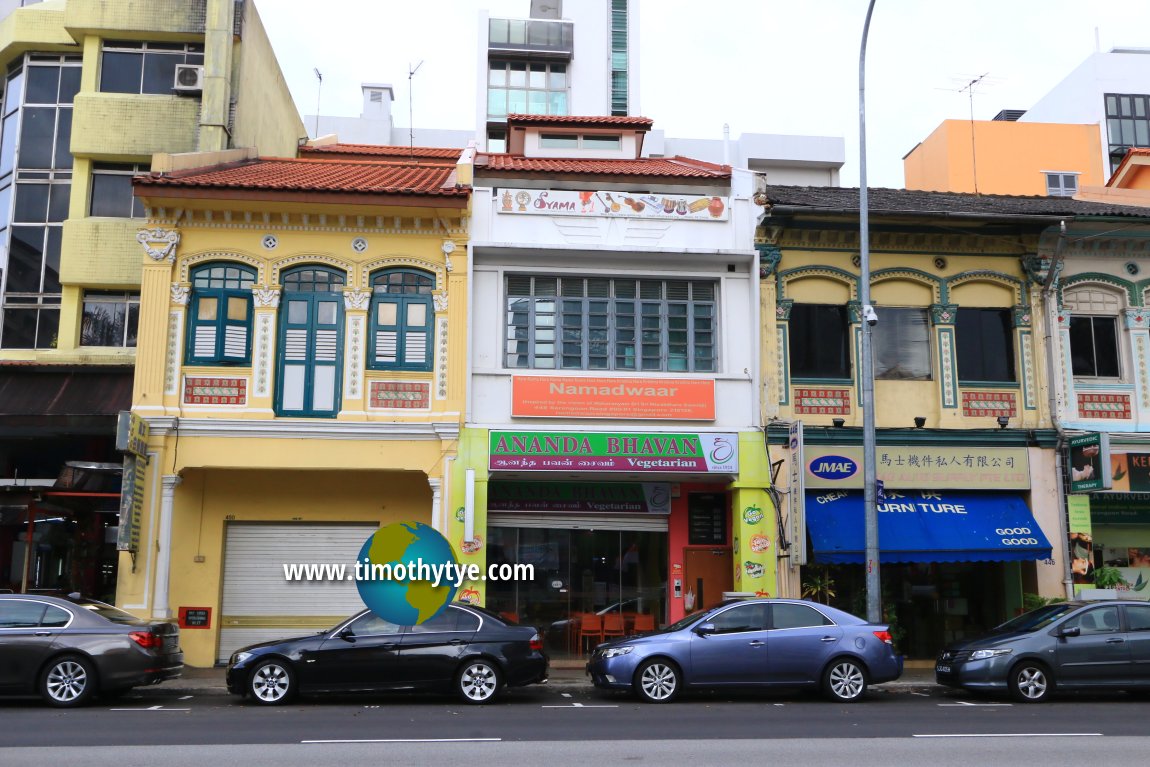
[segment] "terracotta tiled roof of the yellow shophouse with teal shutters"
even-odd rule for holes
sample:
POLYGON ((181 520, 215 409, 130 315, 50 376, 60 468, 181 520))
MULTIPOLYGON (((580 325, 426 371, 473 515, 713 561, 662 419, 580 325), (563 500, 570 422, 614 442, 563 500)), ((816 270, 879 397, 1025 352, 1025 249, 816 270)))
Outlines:
POLYGON ((140 186, 467 197, 470 189, 454 184, 454 164, 267 158, 168 175, 137 176, 135 183, 140 186))

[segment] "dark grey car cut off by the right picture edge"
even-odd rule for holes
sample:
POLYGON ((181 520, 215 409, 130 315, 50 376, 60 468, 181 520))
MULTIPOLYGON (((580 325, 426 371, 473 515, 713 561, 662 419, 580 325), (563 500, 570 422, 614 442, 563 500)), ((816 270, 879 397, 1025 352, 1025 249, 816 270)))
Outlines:
POLYGON ((1010 692, 1022 703, 1056 689, 1150 691, 1150 604, 1064 601, 948 646, 938 684, 1010 692))

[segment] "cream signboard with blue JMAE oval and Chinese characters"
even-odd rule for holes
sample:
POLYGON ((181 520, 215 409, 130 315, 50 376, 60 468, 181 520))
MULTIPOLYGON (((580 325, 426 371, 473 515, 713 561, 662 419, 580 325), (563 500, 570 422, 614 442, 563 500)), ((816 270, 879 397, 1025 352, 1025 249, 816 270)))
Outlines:
MULTIPOLYGON (((806 447, 805 485, 820 490, 862 488, 862 448, 806 447)), ((1026 490, 1030 463, 1025 447, 883 447, 875 448, 875 475, 885 488, 1026 490)))

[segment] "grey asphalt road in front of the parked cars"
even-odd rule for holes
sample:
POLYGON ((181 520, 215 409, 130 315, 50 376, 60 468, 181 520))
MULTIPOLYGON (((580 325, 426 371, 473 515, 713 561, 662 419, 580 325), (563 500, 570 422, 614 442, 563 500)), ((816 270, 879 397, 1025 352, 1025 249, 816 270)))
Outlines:
MULTIPOLYGON (((297 753, 307 754, 300 758, 309 758, 312 765, 336 764, 344 751, 347 764, 362 764, 352 752, 365 746, 373 746, 377 757, 379 749, 386 747, 389 764, 401 764, 397 753, 414 754, 413 764, 427 764, 434 756, 439 765, 465 764, 454 761, 457 754, 490 753, 501 759, 504 754, 530 753, 532 760, 545 758, 549 767, 568 764, 555 756, 562 753, 578 756, 569 764, 583 765, 592 758, 614 764, 623 760, 624 753, 628 761, 652 764, 674 764, 689 756, 695 757, 693 764, 700 764, 699 759, 702 764, 735 760, 734 756, 720 758, 720 751, 743 756, 785 752, 802 757, 803 764, 820 764, 823 757, 834 761, 836 753, 861 757, 876 749, 879 741, 885 743, 875 751, 883 754, 883 761, 875 764, 884 765, 897 761, 892 747, 903 750, 912 760, 908 764, 922 764, 929 752, 940 766, 951 764, 946 759, 952 752, 967 754, 963 764, 969 765, 972 754, 989 749, 996 754, 990 764, 1003 764, 1019 750, 1027 754, 1027 761, 1034 761, 1034 749, 1045 752, 1049 747, 1049 759, 1043 761, 1064 764, 1060 754, 1079 753, 1079 743, 1092 744, 1081 752, 1083 758, 1092 754, 1091 764, 1106 764, 1098 761, 1099 753, 1111 753, 1110 749, 1118 750, 1112 753, 1116 759, 1124 759, 1118 764, 1141 764, 1150 750, 1148 721, 1150 703, 1121 692, 1012 705, 941 688, 875 688, 865 700, 850 705, 802 693, 699 695, 670 705, 650 705, 626 695, 577 688, 528 688, 492 706, 468 706, 444 697, 389 696, 262 707, 225 695, 190 696, 158 688, 69 711, 34 701, 0 703, 0 764, 9 767, 51 760, 55 765, 95 766, 102 764, 105 753, 137 753, 145 764, 146 746, 197 746, 187 752, 199 754, 194 759, 164 761, 202 765, 214 760, 208 754, 215 751, 201 746, 255 744, 274 744, 275 749, 264 745, 256 752, 281 754, 277 765, 296 764, 292 754, 297 753), (1121 756, 1130 746, 1124 736, 1136 739, 1140 756, 1134 761, 1121 756), (934 742, 945 747, 921 745, 934 742), (557 745, 565 743, 565 749, 557 745), (956 743, 961 744, 957 751, 956 743), (51 752, 45 750, 48 747, 51 752), (656 754, 665 758, 656 760, 656 754)), ((221 753, 218 761, 270 764, 263 758, 252 762, 245 753, 246 749, 239 747, 221 753)))

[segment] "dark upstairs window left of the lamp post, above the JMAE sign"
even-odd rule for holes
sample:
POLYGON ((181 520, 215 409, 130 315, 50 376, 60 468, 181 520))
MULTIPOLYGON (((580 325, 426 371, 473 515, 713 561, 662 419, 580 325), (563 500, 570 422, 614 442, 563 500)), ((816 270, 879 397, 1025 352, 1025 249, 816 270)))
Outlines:
POLYGON ((845 306, 795 304, 787 336, 791 378, 851 377, 850 317, 845 306))

